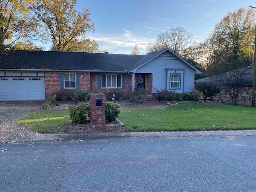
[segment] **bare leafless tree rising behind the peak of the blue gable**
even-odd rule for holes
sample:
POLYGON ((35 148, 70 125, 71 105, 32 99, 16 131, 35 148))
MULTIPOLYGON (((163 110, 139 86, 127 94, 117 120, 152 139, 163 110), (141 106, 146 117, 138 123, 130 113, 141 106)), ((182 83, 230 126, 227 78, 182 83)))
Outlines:
POLYGON ((181 55, 184 48, 192 44, 192 34, 181 27, 171 28, 164 33, 160 33, 156 43, 168 47, 176 54, 181 55))

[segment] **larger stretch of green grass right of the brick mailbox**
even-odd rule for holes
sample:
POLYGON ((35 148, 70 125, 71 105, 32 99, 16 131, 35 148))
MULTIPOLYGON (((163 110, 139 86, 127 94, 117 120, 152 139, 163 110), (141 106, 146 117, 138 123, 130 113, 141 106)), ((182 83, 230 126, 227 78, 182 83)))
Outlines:
POLYGON ((168 109, 122 110, 126 131, 245 130, 256 128, 256 108, 178 104, 168 109))

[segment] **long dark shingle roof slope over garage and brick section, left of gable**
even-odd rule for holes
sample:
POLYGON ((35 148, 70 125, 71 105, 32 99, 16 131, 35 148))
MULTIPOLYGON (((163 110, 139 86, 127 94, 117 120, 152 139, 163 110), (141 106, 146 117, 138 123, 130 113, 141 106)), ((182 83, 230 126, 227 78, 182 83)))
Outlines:
POLYGON ((0 69, 125 71, 143 55, 15 51, 0 55, 0 69))

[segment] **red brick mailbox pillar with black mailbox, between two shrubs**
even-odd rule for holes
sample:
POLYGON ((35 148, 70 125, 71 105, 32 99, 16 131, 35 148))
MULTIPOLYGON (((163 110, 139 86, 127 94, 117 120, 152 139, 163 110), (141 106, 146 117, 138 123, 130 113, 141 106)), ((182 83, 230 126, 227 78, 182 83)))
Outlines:
POLYGON ((91 106, 91 127, 92 133, 104 133, 105 132, 105 106, 106 96, 101 93, 92 93, 90 95, 91 106))

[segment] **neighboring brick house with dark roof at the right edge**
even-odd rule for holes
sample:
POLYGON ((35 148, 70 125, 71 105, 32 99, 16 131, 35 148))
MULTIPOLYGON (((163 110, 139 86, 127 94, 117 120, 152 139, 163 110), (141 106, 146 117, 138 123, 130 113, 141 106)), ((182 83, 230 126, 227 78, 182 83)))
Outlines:
MULTIPOLYGON (((254 71, 254 67, 251 66, 248 70, 248 76, 246 76, 246 78, 241 83, 240 93, 237 98, 238 104, 244 104, 244 105, 252 104, 253 71, 254 71)), ((214 76, 195 80, 196 83, 210 82, 210 81, 214 81, 214 76)), ((222 92, 216 97, 226 99, 226 102, 232 103, 231 98, 228 96, 228 94, 224 90, 222 90, 222 92)))

